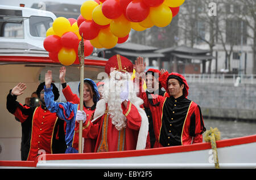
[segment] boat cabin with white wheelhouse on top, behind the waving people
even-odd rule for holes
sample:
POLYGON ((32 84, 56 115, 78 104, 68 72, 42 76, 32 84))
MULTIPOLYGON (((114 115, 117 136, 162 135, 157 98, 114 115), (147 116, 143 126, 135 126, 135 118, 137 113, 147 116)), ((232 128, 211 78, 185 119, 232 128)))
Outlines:
MULTIPOLYGON (((61 92, 59 70, 62 66, 49 58, 43 48, 46 31, 52 26, 56 16, 49 11, 25 7, 0 5, 0 160, 20 160, 22 128, 13 114, 6 109, 6 96, 19 82, 27 88, 17 101, 25 104, 38 85, 44 82, 47 70, 52 70, 53 81, 59 88, 59 100, 64 102, 61 92)), ((108 59, 95 56, 85 57, 85 78, 96 80, 108 59)), ((66 80, 74 93, 80 81, 79 65, 67 68, 66 80)))

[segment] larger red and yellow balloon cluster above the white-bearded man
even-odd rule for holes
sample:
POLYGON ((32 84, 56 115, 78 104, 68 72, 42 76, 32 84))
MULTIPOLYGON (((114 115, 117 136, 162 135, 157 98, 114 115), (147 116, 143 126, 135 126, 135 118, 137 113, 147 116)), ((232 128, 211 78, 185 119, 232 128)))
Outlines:
POLYGON ((144 31, 166 27, 185 0, 94 0, 85 1, 77 19, 80 35, 95 48, 113 48, 125 42, 133 28, 144 31))

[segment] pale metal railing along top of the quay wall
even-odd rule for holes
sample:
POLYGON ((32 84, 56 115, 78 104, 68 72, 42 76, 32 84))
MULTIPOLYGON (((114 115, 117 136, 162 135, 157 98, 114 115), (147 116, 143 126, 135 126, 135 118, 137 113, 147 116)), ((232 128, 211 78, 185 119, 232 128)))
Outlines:
POLYGON ((183 74, 189 83, 256 84, 256 74, 183 74))

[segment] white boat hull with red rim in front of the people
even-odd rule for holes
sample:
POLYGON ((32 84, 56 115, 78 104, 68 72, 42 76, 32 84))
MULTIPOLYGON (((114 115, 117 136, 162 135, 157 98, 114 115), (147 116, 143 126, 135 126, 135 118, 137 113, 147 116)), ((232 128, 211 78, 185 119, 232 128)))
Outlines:
MULTIPOLYGON (((256 168, 256 135, 219 140, 220 168, 256 168)), ((40 155, 0 161, 0 168, 214 168, 210 143, 122 152, 40 155)))

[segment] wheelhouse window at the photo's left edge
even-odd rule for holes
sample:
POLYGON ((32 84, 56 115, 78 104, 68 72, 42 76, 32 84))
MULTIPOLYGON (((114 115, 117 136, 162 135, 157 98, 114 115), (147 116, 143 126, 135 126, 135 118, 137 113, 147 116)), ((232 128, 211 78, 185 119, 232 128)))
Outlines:
POLYGON ((23 22, 1 22, 1 37, 24 38, 23 22))

